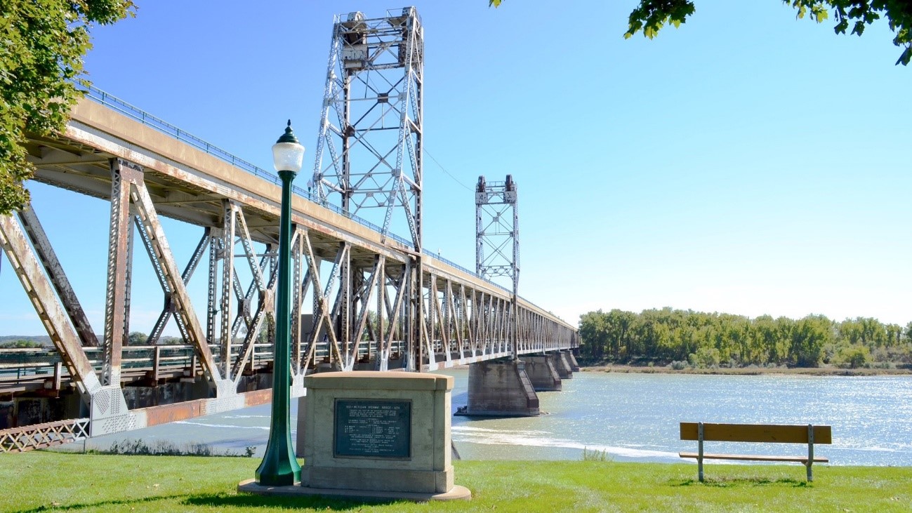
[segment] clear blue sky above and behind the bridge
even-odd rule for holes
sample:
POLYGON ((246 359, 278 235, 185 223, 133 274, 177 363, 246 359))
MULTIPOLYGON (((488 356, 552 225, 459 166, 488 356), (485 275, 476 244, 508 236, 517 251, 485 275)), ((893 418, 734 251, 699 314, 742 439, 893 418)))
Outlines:
MULTIPOLYGON (((264 169, 286 118, 313 156, 333 15, 401 6, 138 3, 94 31, 95 85, 264 169)), ((778 0, 697 0, 679 29, 624 40, 636 3, 417 2, 425 149, 465 186, 517 180, 523 297, 571 323, 664 306, 912 321, 912 69, 886 24, 835 36, 778 0)), ((33 192, 100 333, 108 205, 33 192)), ((424 194, 425 247, 473 268, 472 191, 425 159, 424 194)), ((199 237, 182 229, 181 266, 199 237)), ((137 273, 148 332, 161 295, 137 273)), ((8 262, 0 297, 0 334, 43 333, 8 262)))

